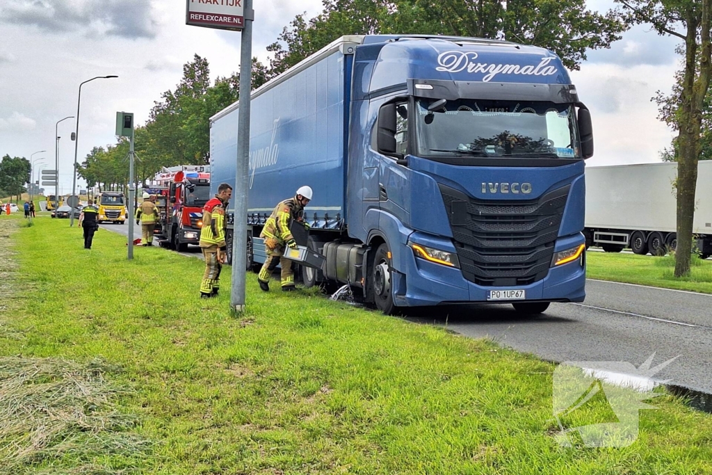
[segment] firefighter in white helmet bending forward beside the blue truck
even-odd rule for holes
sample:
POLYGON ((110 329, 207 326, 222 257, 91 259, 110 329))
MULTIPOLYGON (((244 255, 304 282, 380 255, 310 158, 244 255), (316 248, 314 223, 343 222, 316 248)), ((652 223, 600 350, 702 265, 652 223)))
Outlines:
MULTIPOLYGON (((304 207, 311 201, 311 198, 312 189, 310 187, 301 187, 297 190, 295 197, 280 202, 267 219, 260 233, 260 237, 264 239, 265 248, 267 249, 267 260, 257 276, 257 281, 263 291, 269 291, 269 278, 277 264, 282 268, 282 290, 285 292, 294 290, 292 261, 284 257, 284 251, 287 246, 290 248, 297 246, 294 236, 289 230, 289 225, 295 219, 303 221, 304 207)), ((306 228, 309 226, 304 222, 302 224, 306 228)))

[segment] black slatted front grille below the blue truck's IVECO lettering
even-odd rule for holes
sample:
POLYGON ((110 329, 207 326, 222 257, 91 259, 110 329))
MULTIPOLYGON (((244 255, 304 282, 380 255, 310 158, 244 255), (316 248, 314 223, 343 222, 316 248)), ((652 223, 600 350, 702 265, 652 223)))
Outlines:
POLYGON ((546 277, 570 186, 528 201, 474 199, 439 186, 464 278, 500 287, 546 277))

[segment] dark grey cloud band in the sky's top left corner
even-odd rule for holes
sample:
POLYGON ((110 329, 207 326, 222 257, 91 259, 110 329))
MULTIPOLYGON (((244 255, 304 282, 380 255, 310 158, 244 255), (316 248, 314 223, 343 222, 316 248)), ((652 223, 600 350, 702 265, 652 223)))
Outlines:
POLYGON ((156 25, 149 0, 6 0, 0 21, 122 38, 154 38, 156 25))

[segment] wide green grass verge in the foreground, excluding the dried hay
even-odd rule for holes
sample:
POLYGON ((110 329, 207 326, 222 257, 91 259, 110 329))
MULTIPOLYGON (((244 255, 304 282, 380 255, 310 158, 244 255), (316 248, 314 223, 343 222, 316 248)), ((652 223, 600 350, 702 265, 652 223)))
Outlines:
MULTIPOLYGON (((115 407, 137 423, 96 437, 150 450, 54 447, 13 475, 712 472, 712 417, 671 396, 641 412, 631 447, 560 447, 554 365, 315 291, 261 293, 254 274, 234 317, 226 293, 198 298, 201 261, 140 247, 127 261, 122 236, 99 231, 87 251, 80 234, 37 219, 2 239, 12 292, 0 357, 79 368, 99 358, 121 389, 103 393, 100 414, 115 407)), ((593 402, 583 418, 606 415, 593 402)))

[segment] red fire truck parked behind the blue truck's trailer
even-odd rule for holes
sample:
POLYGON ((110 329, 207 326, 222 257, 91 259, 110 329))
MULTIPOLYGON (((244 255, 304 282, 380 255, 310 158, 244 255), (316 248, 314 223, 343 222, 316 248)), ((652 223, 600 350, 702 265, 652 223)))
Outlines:
POLYGON ((160 218, 156 237, 161 246, 185 251, 188 244, 198 244, 203 207, 210 199, 210 172, 207 165, 164 167, 156 175, 152 190, 160 218))

